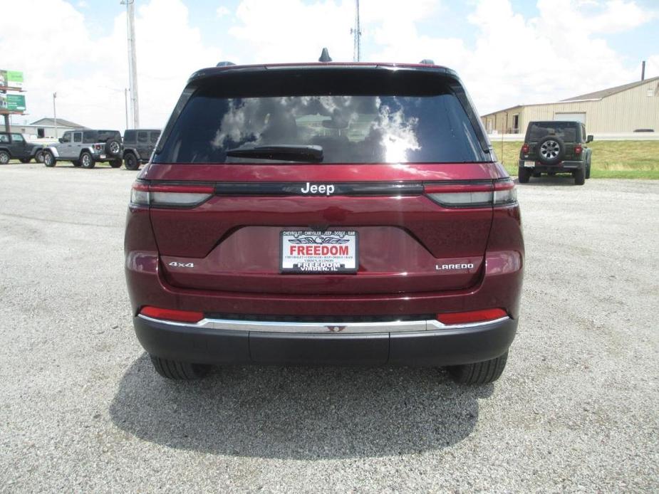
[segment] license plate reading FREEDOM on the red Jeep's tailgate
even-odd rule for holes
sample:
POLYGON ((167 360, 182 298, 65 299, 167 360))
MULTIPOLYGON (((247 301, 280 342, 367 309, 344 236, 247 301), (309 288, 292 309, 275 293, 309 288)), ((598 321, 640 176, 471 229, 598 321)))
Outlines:
POLYGON ((353 273, 357 270, 356 231, 282 231, 282 273, 353 273))

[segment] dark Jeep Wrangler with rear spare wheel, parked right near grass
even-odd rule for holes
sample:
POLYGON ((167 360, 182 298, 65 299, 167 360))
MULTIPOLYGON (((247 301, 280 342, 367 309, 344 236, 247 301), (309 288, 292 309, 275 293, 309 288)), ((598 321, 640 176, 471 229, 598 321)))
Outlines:
POLYGON ((569 173, 575 184, 583 185, 591 177, 592 150, 586 144, 592 140, 581 122, 529 122, 519 151, 519 183, 543 173, 569 173))

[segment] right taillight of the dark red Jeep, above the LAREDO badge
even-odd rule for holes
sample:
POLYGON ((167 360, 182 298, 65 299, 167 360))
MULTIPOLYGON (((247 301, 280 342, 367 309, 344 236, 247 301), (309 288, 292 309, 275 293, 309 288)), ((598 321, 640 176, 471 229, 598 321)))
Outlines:
POLYGON ((513 204, 517 191, 512 179, 487 184, 425 184, 424 193, 442 206, 454 208, 492 207, 513 204))

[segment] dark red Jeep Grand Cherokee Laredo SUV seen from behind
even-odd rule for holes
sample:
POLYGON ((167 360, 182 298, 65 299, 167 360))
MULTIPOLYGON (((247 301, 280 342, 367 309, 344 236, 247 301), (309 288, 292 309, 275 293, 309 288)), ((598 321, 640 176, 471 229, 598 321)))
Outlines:
POLYGON ((199 70, 126 224, 135 332, 172 379, 251 362, 492 382, 523 266, 514 183, 436 65, 199 70))

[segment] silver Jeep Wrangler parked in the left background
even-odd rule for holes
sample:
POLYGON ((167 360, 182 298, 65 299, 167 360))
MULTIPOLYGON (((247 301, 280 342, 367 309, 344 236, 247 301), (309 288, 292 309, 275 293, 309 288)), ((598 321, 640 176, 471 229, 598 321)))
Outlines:
POLYGON ((43 149, 43 164, 54 167, 58 161, 70 161, 74 167, 93 168, 98 162, 108 162, 118 168, 122 149, 118 130, 71 130, 43 149))

